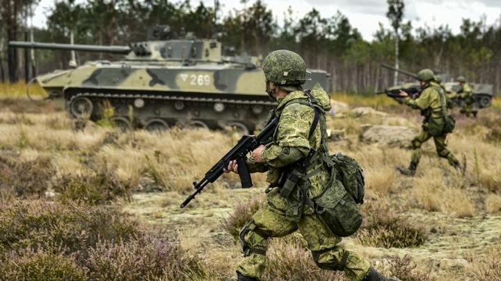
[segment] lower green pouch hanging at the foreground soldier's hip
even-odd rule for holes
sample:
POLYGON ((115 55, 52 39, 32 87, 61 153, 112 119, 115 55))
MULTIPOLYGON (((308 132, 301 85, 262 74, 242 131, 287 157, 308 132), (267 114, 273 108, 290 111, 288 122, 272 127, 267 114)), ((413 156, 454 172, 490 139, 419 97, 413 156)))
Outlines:
POLYGON ((340 237, 355 233, 362 225, 362 215, 342 182, 333 180, 331 185, 317 198, 315 211, 324 219, 331 231, 340 237))

